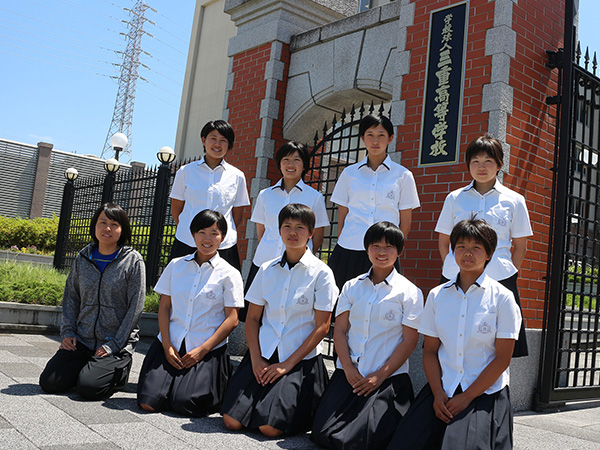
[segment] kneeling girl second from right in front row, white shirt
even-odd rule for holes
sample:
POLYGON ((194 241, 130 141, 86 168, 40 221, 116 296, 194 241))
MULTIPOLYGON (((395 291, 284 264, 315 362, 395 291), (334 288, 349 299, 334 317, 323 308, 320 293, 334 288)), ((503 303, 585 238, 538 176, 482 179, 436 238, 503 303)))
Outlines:
POLYGON ((408 357, 423 294, 394 268, 404 236, 390 222, 365 234, 372 267, 348 281, 334 328, 337 369, 315 413, 311 439, 333 449, 385 448, 413 400, 408 357))

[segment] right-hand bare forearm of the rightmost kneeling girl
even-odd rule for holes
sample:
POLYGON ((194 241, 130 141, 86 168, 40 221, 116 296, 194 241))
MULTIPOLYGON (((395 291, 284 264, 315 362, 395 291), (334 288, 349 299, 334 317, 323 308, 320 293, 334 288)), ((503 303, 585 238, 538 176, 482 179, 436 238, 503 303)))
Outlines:
POLYGON ((514 347, 514 339, 496 339, 496 357, 483 369, 471 386, 446 403, 451 418, 469 406, 473 400, 483 394, 502 375, 502 372, 510 364, 514 347))

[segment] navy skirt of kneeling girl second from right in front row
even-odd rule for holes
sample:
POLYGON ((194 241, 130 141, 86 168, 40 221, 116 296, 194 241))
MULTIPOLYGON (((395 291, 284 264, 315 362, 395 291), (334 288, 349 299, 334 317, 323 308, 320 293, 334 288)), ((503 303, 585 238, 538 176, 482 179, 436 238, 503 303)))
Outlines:
POLYGON ((337 369, 315 413, 311 439, 337 450, 383 449, 413 399, 406 373, 389 377, 364 397, 352 392, 344 371, 337 369))

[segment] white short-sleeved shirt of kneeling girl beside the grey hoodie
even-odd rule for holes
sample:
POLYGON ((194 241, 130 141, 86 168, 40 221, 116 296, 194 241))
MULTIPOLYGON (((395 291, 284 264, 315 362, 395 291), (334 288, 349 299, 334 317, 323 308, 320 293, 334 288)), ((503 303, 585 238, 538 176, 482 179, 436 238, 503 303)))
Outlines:
MULTIPOLYGON (((185 339, 188 351, 210 338, 225 320, 225 307, 244 306, 240 272, 217 253, 198 265, 195 253, 173 259, 154 290, 171 296, 169 335, 176 349, 185 339)), ((158 339, 162 342, 159 333, 158 339)), ((227 339, 215 346, 225 345, 227 339)))

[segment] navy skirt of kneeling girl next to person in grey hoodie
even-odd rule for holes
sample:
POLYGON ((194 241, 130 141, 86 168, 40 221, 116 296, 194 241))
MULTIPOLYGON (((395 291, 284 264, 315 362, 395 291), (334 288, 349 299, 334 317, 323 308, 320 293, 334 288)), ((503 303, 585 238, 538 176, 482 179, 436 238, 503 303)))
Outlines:
MULTIPOLYGON (((185 343, 179 351, 185 355, 185 343)), ((227 345, 210 351, 189 369, 169 364, 161 342, 154 340, 140 371, 138 404, 155 411, 171 410, 189 417, 204 417, 219 411, 231 376, 227 345)))

